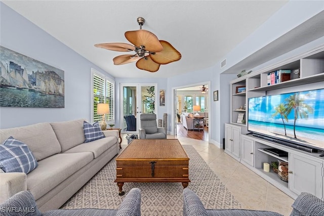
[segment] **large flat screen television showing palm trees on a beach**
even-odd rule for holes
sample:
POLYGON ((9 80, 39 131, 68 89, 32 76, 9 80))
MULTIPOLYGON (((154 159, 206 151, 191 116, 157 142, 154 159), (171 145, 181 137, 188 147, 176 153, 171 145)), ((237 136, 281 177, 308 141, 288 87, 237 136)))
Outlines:
POLYGON ((248 131, 304 151, 324 151, 324 89, 249 98, 248 131))

